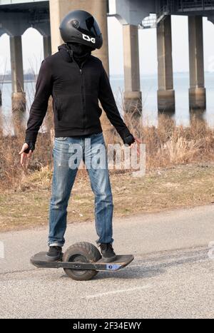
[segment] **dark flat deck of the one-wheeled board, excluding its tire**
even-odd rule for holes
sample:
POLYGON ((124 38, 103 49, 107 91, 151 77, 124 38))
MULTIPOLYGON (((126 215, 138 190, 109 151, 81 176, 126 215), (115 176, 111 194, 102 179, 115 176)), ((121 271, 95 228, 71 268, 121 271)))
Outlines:
POLYGON ((126 267, 134 259, 133 255, 118 255, 117 259, 113 262, 103 262, 103 260, 98 260, 98 262, 63 262, 61 260, 49 262, 46 260, 46 252, 36 253, 31 257, 31 264, 36 267, 44 268, 67 268, 72 270, 121 270, 121 268, 126 267))

